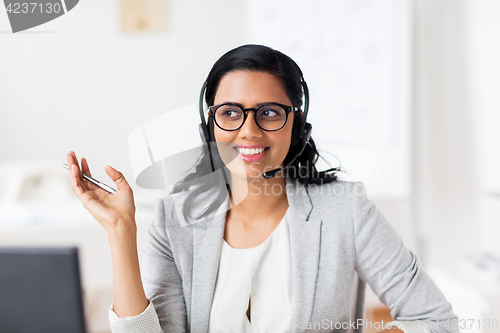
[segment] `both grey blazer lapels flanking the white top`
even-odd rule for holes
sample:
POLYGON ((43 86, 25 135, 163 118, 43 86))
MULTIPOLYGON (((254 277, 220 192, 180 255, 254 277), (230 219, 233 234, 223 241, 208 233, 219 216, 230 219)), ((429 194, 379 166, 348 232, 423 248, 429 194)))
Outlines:
MULTIPOLYGON (((289 203, 287 221, 292 258, 294 321, 295 323, 308 322, 312 314, 318 272, 321 221, 309 219, 312 204, 302 184, 287 178, 286 193, 289 203)), ((208 331, 224 239, 227 204, 229 204, 229 196, 217 212, 204 220, 197 220, 196 223, 190 224, 193 229, 191 332, 208 331)), ((181 223, 186 222, 184 220, 181 223)), ((292 330, 294 333, 297 332, 295 326, 292 330)))

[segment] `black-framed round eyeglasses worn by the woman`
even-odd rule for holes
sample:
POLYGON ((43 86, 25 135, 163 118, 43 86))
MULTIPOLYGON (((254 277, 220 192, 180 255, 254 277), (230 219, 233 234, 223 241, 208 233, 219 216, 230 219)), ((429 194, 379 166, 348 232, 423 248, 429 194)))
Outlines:
POLYGON ((272 132, 285 126, 290 112, 301 111, 296 106, 279 103, 264 103, 257 108, 244 108, 238 103, 222 103, 208 107, 208 114, 214 117, 215 124, 224 131, 236 131, 243 126, 247 112, 254 112, 254 120, 262 130, 272 132))

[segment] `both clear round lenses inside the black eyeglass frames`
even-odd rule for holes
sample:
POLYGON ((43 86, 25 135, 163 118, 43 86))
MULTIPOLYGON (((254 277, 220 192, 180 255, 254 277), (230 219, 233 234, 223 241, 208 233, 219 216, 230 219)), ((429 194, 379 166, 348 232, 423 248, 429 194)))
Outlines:
MULTIPOLYGON (((256 121, 265 130, 277 130, 285 124, 286 111, 279 105, 263 105, 257 109, 256 121)), ((221 105, 215 111, 215 121, 225 130, 235 130, 245 119, 243 110, 236 105, 221 105)))

